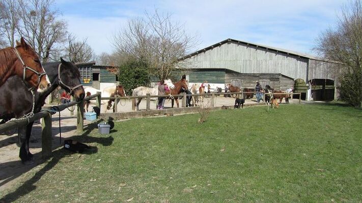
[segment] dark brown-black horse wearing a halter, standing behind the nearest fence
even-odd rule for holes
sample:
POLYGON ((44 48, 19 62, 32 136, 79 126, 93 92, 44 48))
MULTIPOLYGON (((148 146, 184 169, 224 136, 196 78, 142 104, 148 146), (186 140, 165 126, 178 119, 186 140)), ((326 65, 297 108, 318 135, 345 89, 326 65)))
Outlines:
MULTIPOLYGON (((72 95, 76 101, 83 99, 85 92, 79 80, 80 73, 77 66, 61 58, 61 62, 44 64, 44 69, 48 73, 51 85, 43 92, 34 92, 34 97, 18 76, 11 76, 0 87, 0 95, 3 95, 0 97, 2 123, 24 114, 40 112, 46 97, 58 86, 72 95)), ((22 162, 30 161, 33 158, 33 154, 29 151, 33 123, 30 122, 26 126, 19 127, 18 135, 21 143, 19 157, 22 162)))

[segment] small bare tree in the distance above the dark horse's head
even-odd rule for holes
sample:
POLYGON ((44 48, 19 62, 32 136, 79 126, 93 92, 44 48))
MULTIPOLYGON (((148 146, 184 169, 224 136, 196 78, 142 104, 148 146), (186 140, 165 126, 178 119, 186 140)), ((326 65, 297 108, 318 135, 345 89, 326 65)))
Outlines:
POLYGON ((66 57, 73 62, 88 62, 93 56, 93 49, 87 44, 87 39, 77 41, 76 37, 68 35, 66 57))

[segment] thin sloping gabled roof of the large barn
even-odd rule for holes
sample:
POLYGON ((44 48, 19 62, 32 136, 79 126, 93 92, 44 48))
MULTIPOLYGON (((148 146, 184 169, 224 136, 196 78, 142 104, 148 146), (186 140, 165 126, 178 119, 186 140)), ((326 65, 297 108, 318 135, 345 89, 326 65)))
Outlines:
MULTIPOLYGON (((199 53, 203 53, 207 50, 210 50, 210 49, 213 49, 215 47, 218 47, 220 45, 223 45, 223 44, 226 44, 226 43, 230 43, 230 42, 234 42, 234 43, 238 43, 238 44, 244 44, 244 45, 247 45, 247 46, 255 46, 255 47, 258 47, 258 48, 264 48, 266 50, 270 49, 270 50, 274 50, 276 52, 281 52, 281 53, 286 53, 286 54, 291 54, 291 55, 294 55, 294 56, 300 56, 300 57, 304 57, 304 58, 311 58, 311 59, 315 59, 315 60, 323 60, 321 58, 317 58, 316 56, 312 56, 312 55, 308 55, 308 54, 303 54, 303 53, 299 53, 299 52, 296 52, 296 51, 290 51, 290 50, 286 50, 286 49, 281 49, 281 48, 275 48, 275 47, 270 47, 270 46, 266 46, 266 45, 260 45, 260 44, 256 44, 256 43, 250 43, 250 42, 245 42, 245 41, 239 41, 239 40, 233 40, 233 39, 227 39, 227 40, 224 40, 224 41, 221 41, 219 43, 216 43, 214 45, 211 45, 209 47, 206 47, 204 49, 201 49, 199 51, 196 51, 196 52, 193 52, 191 54, 188 54, 184 57, 182 57, 180 60, 183 60, 183 59, 186 59, 186 58, 189 58, 189 57, 192 57, 194 55, 197 55, 199 53)), ((324 61, 324 60, 323 60, 324 61)))

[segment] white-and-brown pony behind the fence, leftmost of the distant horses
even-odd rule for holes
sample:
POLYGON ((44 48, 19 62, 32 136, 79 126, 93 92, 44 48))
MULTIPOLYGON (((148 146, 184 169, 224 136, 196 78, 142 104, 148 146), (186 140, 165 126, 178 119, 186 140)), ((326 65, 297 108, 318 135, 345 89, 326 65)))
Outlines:
MULTIPOLYGON (((90 93, 91 95, 93 95, 93 94, 96 94, 97 92, 101 92, 101 97, 112 97, 115 95, 117 87, 119 87, 119 86, 114 85, 114 86, 106 87, 106 88, 103 88, 102 91, 99 89, 93 88, 93 87, 85 87, 84 92, 86 92, 86 95, 87 95, 87 93, 88 94, 90 93)), ((126 95, 126 93, 123 90, 123 87, 122 87, 122 92, 118 92, 118 94, 120 94, 122 96, 126 95)), ((110 107, 112 107, 112 100, 102 99, 101 105, 104 106, 104 107, 102 107, 102 109, 104 109, 104 113, 105 113, 105 112, 107 112, 107 109, 108 110, 112 109, 112 108, 110 108, 110 107)), ((115 105, 117 105, 117 104, 115 104, 115 105)), ((88 106, 87 106, 87 110, 88 110, 88 106)))

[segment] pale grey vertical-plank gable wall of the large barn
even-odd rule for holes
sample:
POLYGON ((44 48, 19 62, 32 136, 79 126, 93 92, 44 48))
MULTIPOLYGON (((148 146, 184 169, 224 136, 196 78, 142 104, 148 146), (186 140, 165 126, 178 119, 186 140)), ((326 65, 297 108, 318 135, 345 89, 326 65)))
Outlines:
POLYGON ((281 73, 291 78, 307 78, 308 58, 235 42, 185 59, 190 69, 229 69, 239 73, 281 73))

